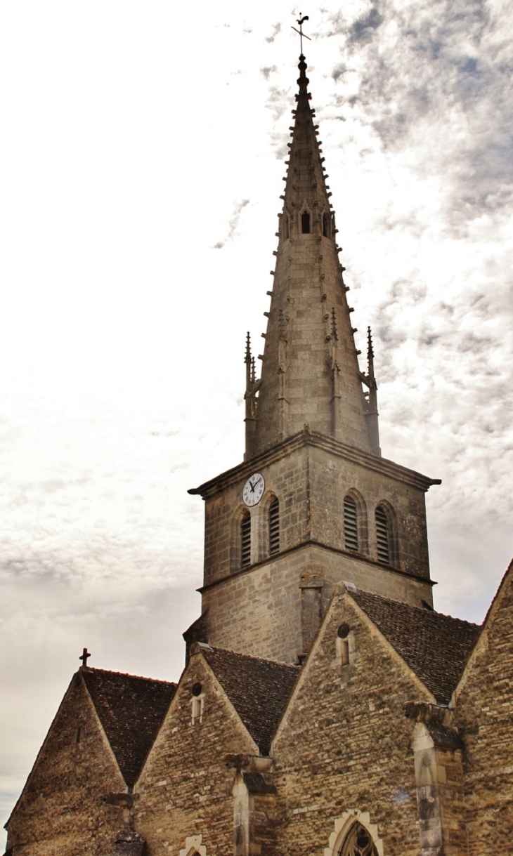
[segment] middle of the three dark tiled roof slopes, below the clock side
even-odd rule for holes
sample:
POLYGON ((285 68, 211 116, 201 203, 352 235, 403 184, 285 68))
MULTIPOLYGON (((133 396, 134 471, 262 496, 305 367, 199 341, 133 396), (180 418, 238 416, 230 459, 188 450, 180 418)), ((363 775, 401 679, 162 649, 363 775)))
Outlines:
POLYGON ((230 698, 259 751, 266 755, 300 666, 204 648, 201 653, 230 698))

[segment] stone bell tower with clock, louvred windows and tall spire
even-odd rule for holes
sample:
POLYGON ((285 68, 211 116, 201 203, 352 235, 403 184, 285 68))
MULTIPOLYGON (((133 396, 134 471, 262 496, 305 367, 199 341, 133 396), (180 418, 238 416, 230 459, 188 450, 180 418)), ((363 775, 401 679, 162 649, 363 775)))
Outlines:
POLYGON ((202 612, 184 633, 301 662, 343 582, 432 608, 428 479, 381 457, 373 344, 349 288, 301 55, 276 270, 257 379, 246 348, 246 453, 189 493, 206 502, 202 612))

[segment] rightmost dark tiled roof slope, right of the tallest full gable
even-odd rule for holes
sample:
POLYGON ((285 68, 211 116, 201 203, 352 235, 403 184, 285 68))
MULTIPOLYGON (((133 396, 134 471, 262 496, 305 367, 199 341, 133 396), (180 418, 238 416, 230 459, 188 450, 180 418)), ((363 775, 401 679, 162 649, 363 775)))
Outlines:
POLYGON ((421 678, 438 704, 448 704, 480 627, 367 591, 349 591, 349 595, 421 678))

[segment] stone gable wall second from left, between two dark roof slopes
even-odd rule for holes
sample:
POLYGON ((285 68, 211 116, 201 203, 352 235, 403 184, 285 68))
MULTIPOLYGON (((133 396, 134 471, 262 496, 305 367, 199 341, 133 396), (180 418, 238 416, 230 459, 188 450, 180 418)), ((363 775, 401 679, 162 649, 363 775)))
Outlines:
POLYGON ((178 856, 187 838, 199 836, 206 856, 233 856, 235 776, 225 764, 227 753, 258 754, 258 748, 211 669, 191 653, 135 788, 135 823, 146 837, 148 856, 178 856), (197 683, 203 710, 193 724, 197 683))

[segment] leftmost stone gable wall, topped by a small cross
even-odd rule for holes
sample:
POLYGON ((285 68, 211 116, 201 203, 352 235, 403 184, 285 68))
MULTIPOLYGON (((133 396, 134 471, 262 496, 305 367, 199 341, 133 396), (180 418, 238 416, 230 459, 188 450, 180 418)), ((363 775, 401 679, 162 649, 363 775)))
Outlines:
POLYGON ((122 812, 103 800, 124 790, 79 672, 11 816, 8 847, 14 856, 104 856, 112 850, 122 812))

